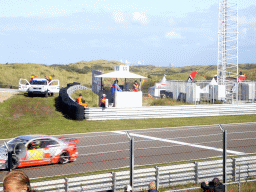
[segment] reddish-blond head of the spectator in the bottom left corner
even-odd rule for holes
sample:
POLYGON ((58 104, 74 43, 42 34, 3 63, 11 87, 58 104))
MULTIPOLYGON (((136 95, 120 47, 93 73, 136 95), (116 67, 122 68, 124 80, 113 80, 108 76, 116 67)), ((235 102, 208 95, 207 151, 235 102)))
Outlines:
POLYGON ((28 176, 19 170, 14 170, 4 177, 4 192, 32 192, 28 176))

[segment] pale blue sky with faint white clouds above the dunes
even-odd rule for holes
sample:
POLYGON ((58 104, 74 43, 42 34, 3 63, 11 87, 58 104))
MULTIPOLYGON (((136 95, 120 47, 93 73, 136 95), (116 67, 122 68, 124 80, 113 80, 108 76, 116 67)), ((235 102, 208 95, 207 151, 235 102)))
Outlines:
MULTIPOLYGON (((228 0, 229 1, 229 0, 228 0)), ((256 1, 237 0, 239 63, 256 63, 256 1)), ((0 64, 217 65, 219 0, 1 0, 0 64)))

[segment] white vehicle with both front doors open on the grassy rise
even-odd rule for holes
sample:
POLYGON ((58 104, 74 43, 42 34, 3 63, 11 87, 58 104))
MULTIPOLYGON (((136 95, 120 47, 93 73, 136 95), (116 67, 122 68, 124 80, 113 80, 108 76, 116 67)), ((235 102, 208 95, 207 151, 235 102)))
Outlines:
POLYGON ((20 79, 19 91, 28 92, 29 97, 39 94, 45 97, 48 95, 53 96, 54 93, 59 93, 60 83, 59 80, 48 81, 43 78, 34 78, 30 82, 26 79, 20 79))

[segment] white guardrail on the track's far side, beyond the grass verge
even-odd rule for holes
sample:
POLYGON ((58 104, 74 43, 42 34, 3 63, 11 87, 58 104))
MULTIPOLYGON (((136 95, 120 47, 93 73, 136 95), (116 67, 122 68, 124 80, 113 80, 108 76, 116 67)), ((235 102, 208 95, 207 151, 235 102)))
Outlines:
POLYGON ((85 108, 87 120, 146 119, 146 118, 182 118, 228 115, 256 114, 256 104, 215 104, 151 106, 137 108, 85 108))

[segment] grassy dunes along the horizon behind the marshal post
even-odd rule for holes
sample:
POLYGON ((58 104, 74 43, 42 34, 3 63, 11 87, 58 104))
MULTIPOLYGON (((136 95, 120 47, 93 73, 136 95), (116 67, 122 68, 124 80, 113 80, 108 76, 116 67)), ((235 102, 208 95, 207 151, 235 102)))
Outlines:
MULTIPOLYGON (((68 83, 79 82, 83 85, 91 87, 92 84, 92 70, 101 70, 108 73, 114 70, 115 65, 121 65, 118 61, 80 61, 68 65, 42 65, 42 64, 0 64, 0 86, 12 85, 18 86, 20 78, 29 80, 30 76, 37 77, 52 76, 54 79, 60 80, 61 87, 65 87, 68 83)), ((256 65, 255 64, 240 64, 239 70, 247 75, 251 80, 256 80, 256 65)), ((155 67, 153 65, 147 66, 130 66, 130 72, 148 77, 143 84, 143 90, 146 91, 148 87, 153 86, 155 82, 162 79, 166 74, 168 80, 187 80, 192 71, 198 71, 202 76, 196 76, 195 80, 210 80, 216 75, 216 66, 186 66, 186 67, 155 67)), ((104 79, 105 86, 110 86, 114 79, 104 79)), ((123 83, 120 79, 120 83, 123 83)), ((133 79, 127 80, 130 84, 133 79)))

